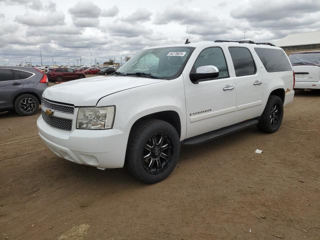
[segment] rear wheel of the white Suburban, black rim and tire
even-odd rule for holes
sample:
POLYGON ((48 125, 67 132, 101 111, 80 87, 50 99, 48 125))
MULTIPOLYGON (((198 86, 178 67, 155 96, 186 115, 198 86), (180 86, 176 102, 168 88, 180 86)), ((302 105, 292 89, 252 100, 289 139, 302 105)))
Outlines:
POLYGON ((258 129, 266 133, 276 132, 282 122, 283 102, 279 96, 270 95, 258 122, 258 129))

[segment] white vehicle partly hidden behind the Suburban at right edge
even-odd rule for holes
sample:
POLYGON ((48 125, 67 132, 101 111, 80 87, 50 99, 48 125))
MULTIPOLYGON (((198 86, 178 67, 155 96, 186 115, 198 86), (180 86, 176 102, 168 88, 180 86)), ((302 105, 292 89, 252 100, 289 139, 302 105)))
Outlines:
POLYGON ((300 51, 289 55, 295 73, 294 88, 320 89, 320 51, 300 51))

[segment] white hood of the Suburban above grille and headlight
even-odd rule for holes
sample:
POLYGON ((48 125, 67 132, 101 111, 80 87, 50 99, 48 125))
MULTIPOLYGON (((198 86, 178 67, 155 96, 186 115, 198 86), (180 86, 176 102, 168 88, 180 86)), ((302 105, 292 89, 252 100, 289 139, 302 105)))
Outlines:
POLYGON ((95 76, 50 86, 42 96, 75 106, 94 106, 103 96, 160 81, 164 80, 136 76, 95 76))

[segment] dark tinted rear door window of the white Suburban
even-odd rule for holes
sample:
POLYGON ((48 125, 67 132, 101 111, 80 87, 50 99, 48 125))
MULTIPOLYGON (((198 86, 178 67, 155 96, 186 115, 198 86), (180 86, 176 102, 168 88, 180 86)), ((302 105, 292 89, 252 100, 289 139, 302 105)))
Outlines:
POLYGON ((235 75, 251 75, 255 73, 255 64, 248 48, 229 47, 229 52, 234 65, 235 75))

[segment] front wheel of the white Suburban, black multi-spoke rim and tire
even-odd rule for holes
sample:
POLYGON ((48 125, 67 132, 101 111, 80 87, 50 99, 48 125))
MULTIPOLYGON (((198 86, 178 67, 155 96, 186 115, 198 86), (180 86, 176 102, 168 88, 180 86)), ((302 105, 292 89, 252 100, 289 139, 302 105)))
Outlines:
POLYGON ((156 183, 171 173, 179 154, 176 129, 166 121, 147 119, 131 130, 125 162, 132 176, 145 183, 156 183))

